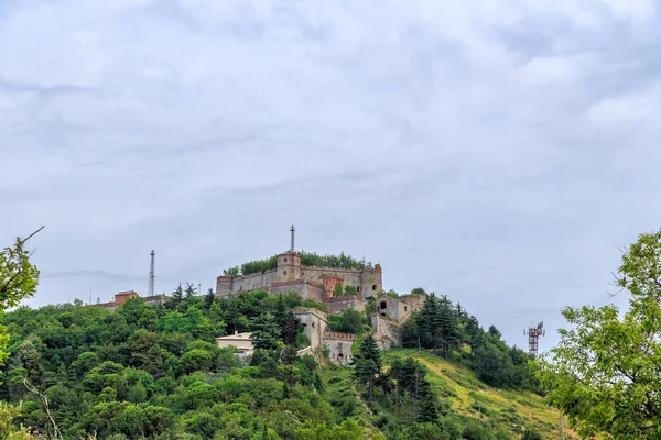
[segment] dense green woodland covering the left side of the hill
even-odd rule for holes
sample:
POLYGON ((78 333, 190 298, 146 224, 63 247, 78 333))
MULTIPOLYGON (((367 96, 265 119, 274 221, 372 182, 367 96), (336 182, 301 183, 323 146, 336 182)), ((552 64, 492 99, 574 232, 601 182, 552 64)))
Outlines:
MULTIPOLYGON (((192 292, 180 286, 165 305, 138 298, 115 312, 76 301, 7 314, 11 356, 0 375, 0 400, 22 400, 18 421, 53 435, 40 397, 25 382, 33 385, 47 396, 67 439, 356 432, 355 421, 319 399, 323 384, 313 358, 293 359, 289 371, 283 361, 289 309, 315 304, 295 293, 215 298, 192 292), (216 346, 215 337, 235 330, 256 337, 249 364, 234 349, 216 346)), ((295 349, 308 345, 301 329, 295 336, 295 349)))

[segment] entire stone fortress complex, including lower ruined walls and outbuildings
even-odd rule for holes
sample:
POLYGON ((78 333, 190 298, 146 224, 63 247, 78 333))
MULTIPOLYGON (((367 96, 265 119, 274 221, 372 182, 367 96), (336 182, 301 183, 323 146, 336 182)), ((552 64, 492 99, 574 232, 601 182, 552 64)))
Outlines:
MULTIPOLYGON (((348 365, 356 334, 332 330, 332 316, 345 309, 367 311, 371 317, 371 333, 381 350, 401 342, 401 326, 424 304, 424 295, 397 296, 383 292, 379 264, 358 262, 350 256, 319 256, 294 250, 294 227, 291 228, 290 250, 271 258, 246 263, 224 271, 216 278, 216 296, 229 297, 241 292, 266 290, 270 294, 296 292, 302 298, 322 302, 327 312, 316 308, 299 307, 293 314, 303 326, 310 346, 297 354, 328 350, 336 364, 348 365), (337 296, 336 296, 337 295, 337 296)), ((120 292, 110 302, 97 304, 115 310, 129 299, 138 298, 133 290, 120 292)), ((165 295, 142 298, 149 305, 162 305, 172 298, 165 295)), ((236 346, 240 356, 251 354, 251 333, 235 333, 216 338, 218 346, 236 346)))

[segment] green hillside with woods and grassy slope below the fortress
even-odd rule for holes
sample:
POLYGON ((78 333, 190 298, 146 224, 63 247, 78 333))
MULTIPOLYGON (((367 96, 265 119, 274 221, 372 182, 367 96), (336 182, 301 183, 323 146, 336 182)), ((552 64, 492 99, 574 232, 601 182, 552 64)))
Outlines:
MULTIPOLYGON (((304 301, 256 292, 175 296, 156 307, 132 299, 115 312, 79 301, 20 308, 3 317, 11 356, 0 400, 23 402, 15 421, 47 436, 52 424, 28 381, 48 397, 66 439, 519 439, 525 428, 557 438, 555 416, 540 397, 514 391, 532 386, 520 351, 507 348, 495 328, 472 333, 475 354, 460 342, 469 340, 473 317, 457 321, 459 345, 432 349, 452 362, 425 350, 369 352, 369 326, 358 322, 355 369, 319 354, 299 356, 289 370, 283 319, 304 301), (215 344, 235 330, 258 334, 248 363, 215 344), (511 389, 478 381, 485 367, 502 373, 486 377, 511 389)), ((423 331, 425 314, 436 307, 438 317, 466 315, 433 296, 426 306, 409 337, 423 331)), ((294 349, 307 343, 299 329, 294 349)))

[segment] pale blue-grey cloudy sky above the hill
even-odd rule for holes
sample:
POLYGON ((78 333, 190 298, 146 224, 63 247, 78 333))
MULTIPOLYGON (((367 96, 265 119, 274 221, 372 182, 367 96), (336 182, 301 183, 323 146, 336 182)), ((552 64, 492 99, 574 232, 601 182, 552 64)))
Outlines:
POLYGON ((289 248, 380 263, 510 344, 628 297, 660 227, 654 0, 1 0, 0 243, 32 307, 215 285, 289 248))

